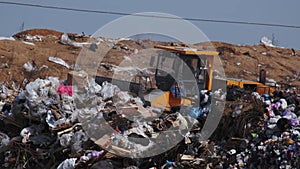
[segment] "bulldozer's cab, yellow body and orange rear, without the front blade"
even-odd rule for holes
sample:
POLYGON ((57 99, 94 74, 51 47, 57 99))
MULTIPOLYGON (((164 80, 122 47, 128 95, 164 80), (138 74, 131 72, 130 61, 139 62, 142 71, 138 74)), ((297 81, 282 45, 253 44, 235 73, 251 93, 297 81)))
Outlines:
MULTIPOLYGON (((212 90, 212 84, 215 80, 213 78, 214 58, 219 55, 219 52, 198 51, 191 48, 177 46, 155 46, 155 48, 162 49, 162 52, 158 55, 157 59, 155 79, 157 87, 160 90, 164 91, 164 93, 151 101, 152 106, 174 107, 182 104, 190 104, 191 100, 193 99, 190 99, 191 97, 189 98, 189 96, 193 96, 193 94, 199 93, 199 91, 202 89, 212 90), (173 56, 171 56, 172 54, 173 56), (188 79, 185 79, 185 77, 187 76, 184 74, 185 70, 180 69, 180 64, 176 63, 176 57, 174 59, 174 55, 177 56, 179 62, 183 62, 188 66, 188 68, 190 68, 189 71, 193 73, 193 76, 197 81, 197 89, 191 87, 194 84, 188 86, 188 79), (166 64, 164 63, 169 64, 169 67, 175 69, 173 75, 170 75, 169 73, 162 73, 160 69, 166 67, 166 64), (181 79, 181 81, 184 82, 185 90, 190 90, 185 91, 189 95, 186 98, 177 98, 172 96, 170 89, 172 88, 172 86, 174 87, 174 83, 176 84, 176 78, 181 79)), ((227 86, 239 86, 240 88, 246 90, 256 91, 259 94, 270 94, 275 90, 275 87, 264 85, 264 73, 265 72, 260 72, 260 82, 233 78, 218 80, 219 82, 225 81, 227 86)), ((215 83, 218 83, 218 81, 215 81, 215 83)))

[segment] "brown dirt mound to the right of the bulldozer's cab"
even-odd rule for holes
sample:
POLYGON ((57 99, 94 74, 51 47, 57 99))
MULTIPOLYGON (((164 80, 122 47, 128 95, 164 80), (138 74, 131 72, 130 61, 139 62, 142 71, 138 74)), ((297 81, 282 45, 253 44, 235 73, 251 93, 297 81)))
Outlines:
MULTIPOLYGON (((299 85, 300 58, 288 48, 264 45, 237 46, 222 42, 212 42, 220 52, 225 74, 231 78, 257 81, 260 69, 267 71, 267 77, 277 82, 299 85)), ((299 54, 299 51, 295 51, 299 54)))

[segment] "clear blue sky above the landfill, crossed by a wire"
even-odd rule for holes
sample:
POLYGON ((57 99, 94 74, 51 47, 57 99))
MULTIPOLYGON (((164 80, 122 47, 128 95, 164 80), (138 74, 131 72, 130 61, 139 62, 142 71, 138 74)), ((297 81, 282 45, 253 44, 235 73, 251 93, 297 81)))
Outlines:
MULTIPOLYGON (((0 0, 1 1, 1 0, 0 0)), ((275 23, 300 26, 300 1, 297 0, 24 0, 13 1, 125 13, 163 12, 179 17, 275 23)), ((101 26, 121 16, 82 13, 0 4, 0 36, 20 30, 48 28, 63 32, 93 34, 101 26)), ((300 49, 300 29, 267 26, 194 22, 210 40, 233 44, 258 44, 262 36, 274 34, 279 46, 300 49)))

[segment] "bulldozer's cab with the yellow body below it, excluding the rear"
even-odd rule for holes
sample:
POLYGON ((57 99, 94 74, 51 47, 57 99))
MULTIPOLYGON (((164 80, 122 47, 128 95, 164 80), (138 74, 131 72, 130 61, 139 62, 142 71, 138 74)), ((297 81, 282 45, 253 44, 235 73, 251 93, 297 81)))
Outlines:
POLYGON ((151 101, 152 106, 176 107, 192 104, 199 99, 193 96, 199 96, 200 90, 212 90, 214 57, 219 55, 218 52, 177 46, 155 48, 162 49, 157 58, 155 80, 158 89, 164 93, 151 101), (163 69, 167 67, 171 70, 164 72, 163 69), (182 84, 177 82, 178 79, 182 84), (174 96, 177 89, 180 93, 181 88, 184 89, 185 96, 174 96))

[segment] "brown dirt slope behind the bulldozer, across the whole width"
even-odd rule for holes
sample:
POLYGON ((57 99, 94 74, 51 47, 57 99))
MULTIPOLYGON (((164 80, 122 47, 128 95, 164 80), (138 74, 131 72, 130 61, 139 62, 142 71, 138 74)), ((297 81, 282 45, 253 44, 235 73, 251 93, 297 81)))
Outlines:
MULTIPOLYGON (((0 40, 0 69, 1 82, 16 82, 20 84, 25 78, 32 81, 36 78, 47 76, 57 76, 66 79, 68 69, 61 65, 48 61, 49 56, 59 57, 69 65, 76 63, 80 53, 80 47, 64 45, 59 43, 62 32, 34 29, 20 32, 16 35, 15 41, 0 40), (25 35, 43 36, 41 41, 30 41, 35 45, 26 44, 22 40, 25 35), (18 39, 19 38, 19 39, 18 39), (37 68, 43 65, 48 68, 34 72, 26 72, 23 68, 27 61, 34 61, 37 68)), ((69 36, 77 36, 68 34, 69 36)), ((87 37, 76 38, 76 41, 86 41, 87 37)), ((156 42, 151 40, 131 41, 124 40, 115 44, 115 48, 110 50, 103 62, 118 65, 124 59, 134 53, 134 50, 151 48, 154 45, 166 45, 170 43, 156 42), (127 48, 122 48, 126 46, 127 48)), ((223 42, 212 42, 214 48, 221 52, 220 58, 225 70, 226 77, 242 78, 247 80, 257 80, 259 69, 267 70, 267 77, 275 79, 277 82, 291 83, 299 85, 298 72, 300 72, 300 57, 292 56, 291 49, 267 47, 263 45, 237 46, 223 42), (259 66, 260 65, 260 66, 259 66)), ((196 44, 197 48, 204 48, 204 44, 196 44)), ((296 53, 300 54, 299 50, 296 53)), ((103 75, 110 75, 105 70, 99 71, 103 75)))

